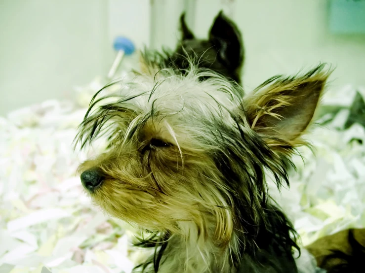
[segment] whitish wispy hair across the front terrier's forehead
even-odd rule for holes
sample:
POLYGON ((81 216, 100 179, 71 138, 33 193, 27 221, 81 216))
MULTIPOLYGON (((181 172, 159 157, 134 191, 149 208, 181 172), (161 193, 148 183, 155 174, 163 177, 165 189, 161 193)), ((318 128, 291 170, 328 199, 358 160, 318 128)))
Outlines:
POLYGON ((198 68, 198 60, 187 61, 190 66, 184 73, 173 68, 161 68, 154 74, 134 71, 103 87, 89 104, 76 144, 84 147, 97 137, 116 133, 114 130, 133 133, 152 118, 180 115, 180 119, 194 116, 198 121, 230 116, 242 100, 242 87, 210 69, 198 68))

